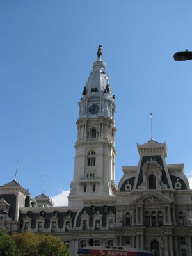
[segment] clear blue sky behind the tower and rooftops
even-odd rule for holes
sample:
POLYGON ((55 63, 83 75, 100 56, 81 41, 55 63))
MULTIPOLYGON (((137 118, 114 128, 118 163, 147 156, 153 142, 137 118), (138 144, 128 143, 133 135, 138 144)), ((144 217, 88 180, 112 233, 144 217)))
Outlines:
POLYGON ((192 50, 191 11, 185 0, 1 0, 1 185, 15 178, 19 159, 17 180, 31 196, 46 174, 45 194, 64 202, 77 102, 99 44, 116 95, 116 183, 121 166, 138 164, 136 143, 150 140, 150 111, 166 163, 184 163, 191 177, 192 61, 173 60, 192 50))

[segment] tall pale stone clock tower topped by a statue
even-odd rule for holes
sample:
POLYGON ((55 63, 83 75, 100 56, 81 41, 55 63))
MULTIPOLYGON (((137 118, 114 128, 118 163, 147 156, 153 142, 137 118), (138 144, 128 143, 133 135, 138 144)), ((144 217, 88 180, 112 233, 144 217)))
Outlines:
POLYGON ((69 206, 81 206, 97 196, 111 197, 115 184, 115 95, 111 92, 106 63, 99 45, 79 102, 74 177, 69 206))

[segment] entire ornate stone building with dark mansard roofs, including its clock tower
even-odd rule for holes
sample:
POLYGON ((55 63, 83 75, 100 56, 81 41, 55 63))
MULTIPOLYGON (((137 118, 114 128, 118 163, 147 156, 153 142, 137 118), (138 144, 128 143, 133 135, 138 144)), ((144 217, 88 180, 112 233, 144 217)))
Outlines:
POLYGON ((31 198, 12 180, 0 186, 0 228, 52 234, 72 256, 90 245, 192 256, 192 191, 184 164, 166 164, 166 143, 138 144, 138 166, 123 166, 115 183, 115 95, 100 45, 97 55, 79 102, 68 206, 54 207, 44 193, 31 198))

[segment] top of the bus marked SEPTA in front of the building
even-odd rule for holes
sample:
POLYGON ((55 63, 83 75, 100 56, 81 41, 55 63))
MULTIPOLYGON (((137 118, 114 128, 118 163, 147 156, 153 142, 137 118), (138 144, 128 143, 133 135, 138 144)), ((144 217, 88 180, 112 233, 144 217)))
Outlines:
POLYGON ((152 256, 152 252, 127 246, 90 246, 78 250, 81 256, 152 256))

